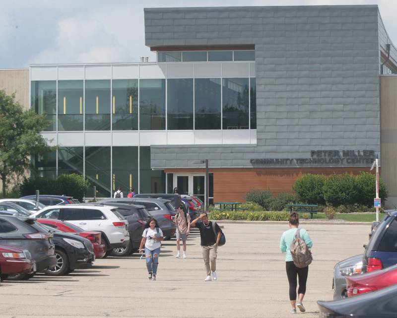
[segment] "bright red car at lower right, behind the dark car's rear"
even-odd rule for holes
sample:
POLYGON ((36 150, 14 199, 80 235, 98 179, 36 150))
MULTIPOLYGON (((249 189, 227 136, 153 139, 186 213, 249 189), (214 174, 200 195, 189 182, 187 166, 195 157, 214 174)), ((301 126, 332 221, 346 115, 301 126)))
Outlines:
POLYGON ((346 276, 347 297, 374 292, 397 284, 397 265, 374 272, 346 276))

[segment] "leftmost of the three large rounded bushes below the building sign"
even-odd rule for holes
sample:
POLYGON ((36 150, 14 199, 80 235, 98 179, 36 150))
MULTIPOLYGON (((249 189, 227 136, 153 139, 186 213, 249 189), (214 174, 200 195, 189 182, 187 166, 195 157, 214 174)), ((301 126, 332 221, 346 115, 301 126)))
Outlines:
POLYGON ((297 199, 306 204, 325 204, 323 187, 326 176, 304 174, 292 189, 295 191, 297 199))

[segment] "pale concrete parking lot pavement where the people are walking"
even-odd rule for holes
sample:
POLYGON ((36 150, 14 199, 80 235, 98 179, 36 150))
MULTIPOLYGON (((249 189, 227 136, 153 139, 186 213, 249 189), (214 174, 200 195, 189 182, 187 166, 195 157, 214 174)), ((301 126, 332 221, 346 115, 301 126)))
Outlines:
MULTIPOLYGON (((157 281, 148 281, 144 260, 132 254, 98 259, 92 268, 62 277, 38 274, 29 281, 3 282, 0 318, 294 317, 279 252, 288 224, 219 224, 227 241, 218 249, 216 282, 203 281, 199 233, 194 230, 187 259, 174 257, 175 239, 163 242, 157 281)), ((318 317, 316 301, 332 299, 333 265, 363 252, 371 225, 312 222, 301 227, 314 244, 304 317, 318 317)))

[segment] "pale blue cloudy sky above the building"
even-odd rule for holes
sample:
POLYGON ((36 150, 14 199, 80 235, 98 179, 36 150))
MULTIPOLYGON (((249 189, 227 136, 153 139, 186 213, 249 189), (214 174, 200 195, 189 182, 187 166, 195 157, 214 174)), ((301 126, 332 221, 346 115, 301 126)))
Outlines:
POLYGON ((29 64, 155 61, 144 7, 378 4, 397 44, 396 0, 0 0, 0 69, 29 64), (165 3, 166 2, 166 3, 165 3))

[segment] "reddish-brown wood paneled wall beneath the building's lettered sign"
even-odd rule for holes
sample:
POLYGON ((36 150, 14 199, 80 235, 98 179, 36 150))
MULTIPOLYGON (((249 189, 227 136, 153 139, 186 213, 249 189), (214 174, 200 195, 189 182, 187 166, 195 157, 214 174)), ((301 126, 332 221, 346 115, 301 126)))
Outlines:
MULTIPOLYGON (((252 189, 278 192, 292 191, 296 179, 305 173, 358 175, 368 168, 224 168, 209 169, 214 174, 214 201, 245 201, 245 195, 252 189)), ((205 172, 204 169, 167 169, 166 173, 205 172)), ((373 170, 374 172, 374 170, 373 170)))

